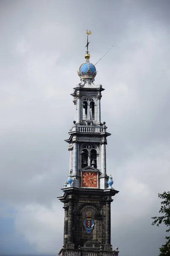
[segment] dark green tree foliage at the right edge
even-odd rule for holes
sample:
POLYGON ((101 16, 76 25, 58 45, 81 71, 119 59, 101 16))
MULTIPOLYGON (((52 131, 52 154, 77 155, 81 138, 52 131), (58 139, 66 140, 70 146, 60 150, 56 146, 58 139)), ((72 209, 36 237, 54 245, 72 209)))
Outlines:
MULTIPOLYGON (((170 232, 170 192, 163 192, 158 194, 158 197, 163 199, 161 202, 161 209, 159 213, 162 214, 160 217, 152 217, 154 219, 152 225, 159 227, 160 224, 164 224, 167 227, 166 232, 170 232)), ((170 256, 170 236, 165 236, 166 243, 163 244, 160 249, 159 256, 170 256)))

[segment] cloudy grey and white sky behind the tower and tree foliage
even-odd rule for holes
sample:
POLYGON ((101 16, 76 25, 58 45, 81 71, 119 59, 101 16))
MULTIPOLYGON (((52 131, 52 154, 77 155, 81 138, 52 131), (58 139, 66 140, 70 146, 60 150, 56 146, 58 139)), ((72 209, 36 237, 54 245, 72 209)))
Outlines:
POLYGON ((0 253, 56 255, 63 244, 67 132, 86 29, 102 84, 113 249, 156 256, 158 193, 170 189, 170 1, 0 1, 0 253))

